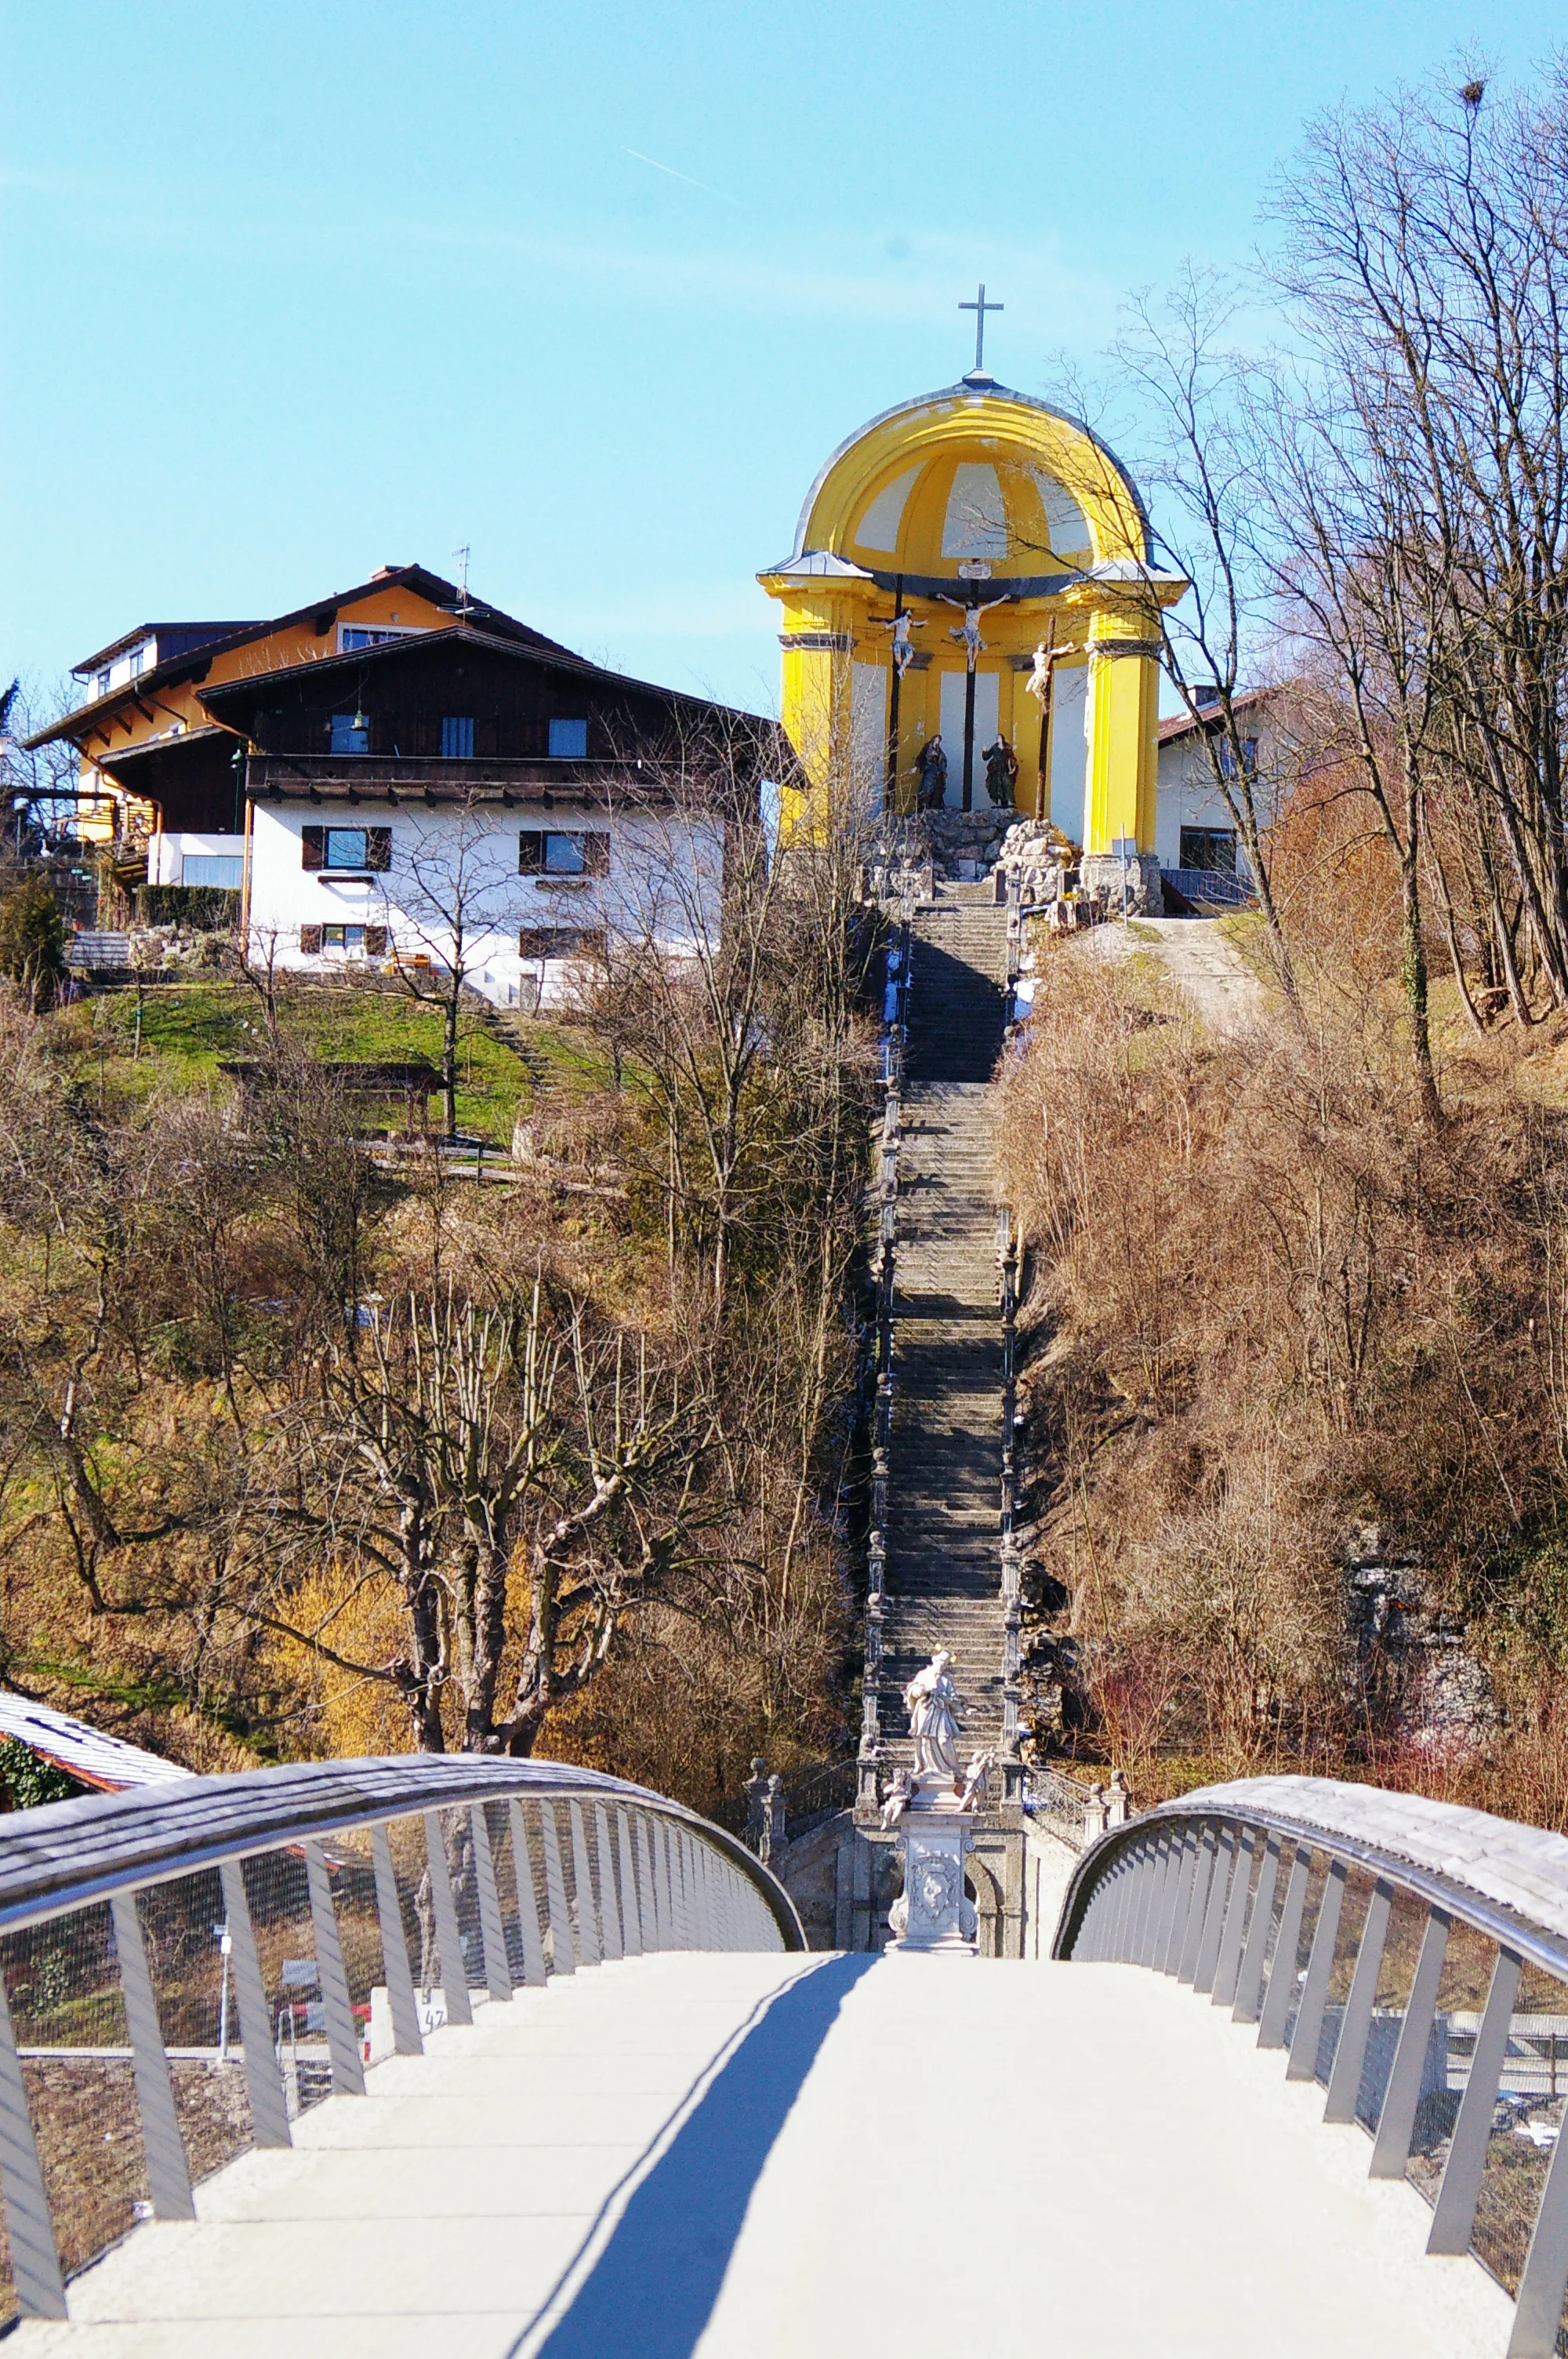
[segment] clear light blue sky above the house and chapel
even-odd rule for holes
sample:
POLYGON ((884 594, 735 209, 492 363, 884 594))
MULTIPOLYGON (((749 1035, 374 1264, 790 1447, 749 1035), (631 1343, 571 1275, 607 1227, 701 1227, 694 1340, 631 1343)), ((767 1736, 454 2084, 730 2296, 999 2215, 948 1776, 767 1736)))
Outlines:
POLYGON ((1049 394, 1245 262, 1302 120, 1542 0, 21 0, 5 54, 0 672, 450 569, 769 710, 752 576, 861 420, 1049 394))

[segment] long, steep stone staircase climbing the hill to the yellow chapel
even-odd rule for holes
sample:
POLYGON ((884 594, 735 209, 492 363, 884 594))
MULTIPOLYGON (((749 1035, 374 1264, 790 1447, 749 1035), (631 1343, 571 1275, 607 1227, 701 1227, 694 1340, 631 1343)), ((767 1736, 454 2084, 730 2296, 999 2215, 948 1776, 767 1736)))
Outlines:
POLYGON ((943 885, 915 913, 898 1149, 894 1432, 882 1727, 905 1757, 903 1687, 948 1647, 964 1746, 1002 1736, 1002 1319, 990 1071, 1002 1050, 1007 911, 943 885))

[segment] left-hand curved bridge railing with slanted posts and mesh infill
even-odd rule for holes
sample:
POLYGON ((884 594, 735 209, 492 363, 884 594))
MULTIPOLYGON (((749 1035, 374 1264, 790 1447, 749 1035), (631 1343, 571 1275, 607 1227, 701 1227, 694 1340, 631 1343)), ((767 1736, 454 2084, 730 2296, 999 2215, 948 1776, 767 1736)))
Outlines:
POLYGON ((641 1786, 476 1755, 179 1776, 0 1828, 0 2321, 191 2184, 288 2147, 476 2003, 667 1949, 802 1951, 736 1835, 641 1786), (5 2281, 9 2276, 9 2284, 5 2281))

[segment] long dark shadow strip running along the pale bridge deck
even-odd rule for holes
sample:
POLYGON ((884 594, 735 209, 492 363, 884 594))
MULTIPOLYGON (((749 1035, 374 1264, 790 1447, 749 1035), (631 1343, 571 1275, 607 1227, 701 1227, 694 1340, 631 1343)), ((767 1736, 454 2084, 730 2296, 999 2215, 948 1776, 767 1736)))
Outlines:
POLYGON ((837 2012, 875 1956, 830 1958, 771 2000, 632 2194, 535 2359, 691 2359, 745 2206, 837 2012))

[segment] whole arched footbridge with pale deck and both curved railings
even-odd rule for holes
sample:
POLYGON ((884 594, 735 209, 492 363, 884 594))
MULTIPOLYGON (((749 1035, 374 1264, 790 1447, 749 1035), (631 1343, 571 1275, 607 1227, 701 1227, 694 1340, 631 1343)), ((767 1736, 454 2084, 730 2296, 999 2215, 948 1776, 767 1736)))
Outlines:
POLYGON ((1054 1956, 811 1953, 719 1828, 337 1762, 0 1838, 19 2359, 1559 2350, 1568 1840, 1311 1779, 1054 1956))

